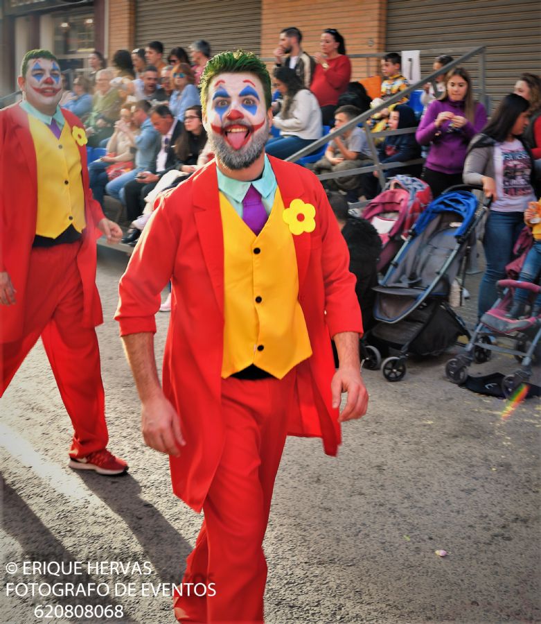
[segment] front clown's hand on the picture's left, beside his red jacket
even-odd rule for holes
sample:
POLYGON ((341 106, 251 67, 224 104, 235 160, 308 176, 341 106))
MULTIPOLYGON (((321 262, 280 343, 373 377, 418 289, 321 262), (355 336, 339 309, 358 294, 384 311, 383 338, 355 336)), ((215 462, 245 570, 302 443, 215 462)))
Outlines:
POLYGON ((141 431, 145 443, 160 453, 179 457, 180 447, 186 446, 179 415, 163 392, 143 403, 141 431))

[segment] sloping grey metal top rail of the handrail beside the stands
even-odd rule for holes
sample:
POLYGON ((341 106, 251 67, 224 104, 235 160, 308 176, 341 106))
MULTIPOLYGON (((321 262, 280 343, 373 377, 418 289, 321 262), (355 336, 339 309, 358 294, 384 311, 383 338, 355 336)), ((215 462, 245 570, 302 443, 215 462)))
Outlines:
MULTIPOLYGON (((336 130, 332 130, 332 132, 329 132, 328 135, 325 135, 324 137, 321 137, 321 139, 317 139, 313 143, 310 143, 310 145, 306 146, 305 148, 302 148, 301 150, 294 153, 290 157, 287 157, 285 160, 290 161, 290 162, 296 162, 297 160, 299 160, 299 158, 302 158, 303 156, 308 156, 308 154, 311 154, 315 150, 319 149, 321 146, 328 143, 328 141, 332 141, 332 139, 334 139, 335 137, 338 137, 339 135, 343 135, 344 132, 347 132, 347 130, 354 128, 356 125, 359 125, 360 123, 364 124, 364 122, 367 119, 370 119, 371 116, 378 114, 378 112, 381 112, 385 108, 388 108, 389 105, 399 102, 400 100, 402 100, 402 98, 409 95, 411 92, 416 91, 416 89, 418 89, 419 87, 422 87, 426 83, 432 82, 433 80, 436 79, 436 76, 439 76, 441 73, 447 73, 447 71, 450 71, 450 69, 454 69, 454 67, 459 67, 459 65, 461 65, 463 62, 472 58, 472 56, 475 56, 477 54, 484 55, 485 50, 486 50, 485 46, 478 46, 477 48, 472 49, 470 52, 462 55, 460 58, 457 58, 456 60, 453 60, 450 63, 447 63, 444 67, 441 67, 441 69, 436 69, 435 71, 432 71, 432 73, 430 73, 426 78, 422 78, 421 80, 418 80, 417 83, 414 83, 413 85, 409 85, 409 87, 394 94, 389 99, 385 100, 383 103, 371 108, 370 110, 365 111, 364 113, 358 115, 354 119, 351 119, 347 123, 344 123, 344 125, 341 125, 340 128, 337 128, 336 130)), ((485 93, 484 76, 482 77, 480 87, 481 87, 481 97, 485 99, 486 93, 485 93)), ((366 134, 368 135, 368 132, 366 132, 366 134)))

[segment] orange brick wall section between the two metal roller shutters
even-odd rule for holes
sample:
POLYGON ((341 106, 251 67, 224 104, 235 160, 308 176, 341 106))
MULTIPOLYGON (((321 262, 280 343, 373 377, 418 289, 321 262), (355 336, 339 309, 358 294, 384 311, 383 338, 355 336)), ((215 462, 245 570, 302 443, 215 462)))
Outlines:
MULTIPOLYGON (((325 28, 336 28, 346 40, 348 54, 383 52, 387 0, 262 0, 261 56, 272 56, 282 28, 296 26, 303 33, 303 49, 319 51, 319 37, 325 28)), ((379 61, 352 59, 352 79, 379 71, 379 61)))

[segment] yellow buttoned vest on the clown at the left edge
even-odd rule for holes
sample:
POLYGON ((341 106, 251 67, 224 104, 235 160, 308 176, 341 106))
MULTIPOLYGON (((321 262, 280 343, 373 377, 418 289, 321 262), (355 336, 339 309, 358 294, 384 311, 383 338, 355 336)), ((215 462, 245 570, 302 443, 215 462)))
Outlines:
POLYGON ((69 123, 57 139, 35 116, 28 115, 28 121, 37 162, 36 234, 55 239, 70 225, 82 232, 86 223, 81 159, 69 123))

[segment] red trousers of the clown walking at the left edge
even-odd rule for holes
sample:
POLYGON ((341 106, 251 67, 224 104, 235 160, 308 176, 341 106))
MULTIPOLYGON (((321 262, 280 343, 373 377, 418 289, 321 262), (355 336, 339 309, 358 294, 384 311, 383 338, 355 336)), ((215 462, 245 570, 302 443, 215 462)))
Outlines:
MULTIPOLYGON (((71 418, 69 451, 84 457, 107 447, 105 398, 94 327, 82 327, 82 283, 77 266, 80 243, 33 248, 30 255, 24 331, 20 340, 0 345, 0 397, 37 338, 43 345, 58 390, 71 418)), ((14 284, 15 288, 17 285, 14 284)), ((17 295, 16 295, 17 296, 17 295)))

